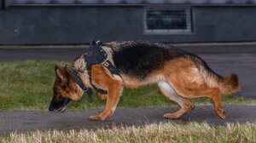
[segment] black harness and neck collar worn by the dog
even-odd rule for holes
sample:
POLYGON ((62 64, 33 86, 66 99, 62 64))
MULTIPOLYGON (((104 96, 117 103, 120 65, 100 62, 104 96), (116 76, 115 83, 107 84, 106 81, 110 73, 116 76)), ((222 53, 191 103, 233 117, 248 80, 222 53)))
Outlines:
MULTIPOLYGON (((108 71, 112 74, 119 75, 119 70, 116 67, 114 67, 109 60, 107 60, 108 54, 100 46, 101 43, 101 41, 97 41, 96 43, 95 41, 90 41, 90 51, 84 55, 84 60, 86 61, 86 68, 88 71, 88 75, 90 77, 90 84, 93 87, 93 89, 96 89, 96 91, 101 94, 108 94, 107 90, 96 88, 96 86, 92 83, 91 80, 91 67, 98 64, 103 64, 103 66, 105 66, 108 69, 108 71)), ((79 85, 79 87, 84 92, 86 92, 86 94, 88 94, 89 97, 91 97, 91 95, 93 94, 92 90, 84 86, 84 83, 82 82, 81 78, 77 75, 77 72, 75 72, 72 68, 70 69, 70 72, 72 73, 73 79, 79 85)))

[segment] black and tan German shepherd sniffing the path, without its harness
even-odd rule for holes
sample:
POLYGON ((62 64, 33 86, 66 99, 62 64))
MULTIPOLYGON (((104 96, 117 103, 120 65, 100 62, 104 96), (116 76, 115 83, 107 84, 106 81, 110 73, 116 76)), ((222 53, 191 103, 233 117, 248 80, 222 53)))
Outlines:
MULTIPOLYGON (((171 45, 149 42, 103 43, 102 49, 108 53, 108 60, 119 70, 119 76, 111 74, 102 64, 92 66, 92 83, 98 89, 108 90, 108 94, 97 93, 107 100, 105 110, 90 120, 104 120, 113 115, 124 86, 137 89, 140 86, 157 83, 162 94, 181 106, 174 113, 166 113, 166 118, 178 118, 191 112, 194 104, 189 100, 207 96, 214 102, 215 112, 225 118, 220 94, 233 94, 240 89, 235 73, 221 77, 213 72, 207 63, 195 54, 173 48, 171 45)), ((73 61, 73 70, 78 73, 84 85, 92 88, 84 54, 73 61)), ((49 111, 63 112, 69 100, 78 101, 84 94, 74 82, 67 66, 55 66, 54 97, 49 111)))

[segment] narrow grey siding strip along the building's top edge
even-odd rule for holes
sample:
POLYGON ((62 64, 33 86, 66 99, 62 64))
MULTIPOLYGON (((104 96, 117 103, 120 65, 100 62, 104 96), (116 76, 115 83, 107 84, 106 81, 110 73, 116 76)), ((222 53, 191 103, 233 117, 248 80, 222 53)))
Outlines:
POLYGON ((7 5, 81 5, 81 4, 255 4, 256 0, 2 0, 7 5))

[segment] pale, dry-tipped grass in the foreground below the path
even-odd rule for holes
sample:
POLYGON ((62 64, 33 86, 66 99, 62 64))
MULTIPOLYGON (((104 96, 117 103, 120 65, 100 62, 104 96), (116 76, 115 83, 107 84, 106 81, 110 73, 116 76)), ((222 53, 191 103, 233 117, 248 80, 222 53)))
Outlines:
POLYGON ((140 127, 114 127, 89 131, 37 131, 0 136, 0 142, 256 142, 256 123, 227 123, 212 126, 208 123, 179 124, 173 122, 148 124, 140 127))

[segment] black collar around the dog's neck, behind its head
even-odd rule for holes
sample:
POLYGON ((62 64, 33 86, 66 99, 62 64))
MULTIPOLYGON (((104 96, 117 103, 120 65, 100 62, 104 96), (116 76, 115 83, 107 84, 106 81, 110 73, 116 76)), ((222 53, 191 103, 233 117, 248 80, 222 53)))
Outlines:
POLYGON ((84 85, 84 83, 82 82, 81 78, 78 76, 77 72, 73 70, 73 68, 70 68, 69 71, 72 74, 72 77, 75 81, 75 83, 77 83, 79 85, 79 87, 83 90, 83 92, 85 92, 86 94, 89 95, 89 97, 92 96, 93 92, 91 91, 90 88, 86 87, 84 85))

